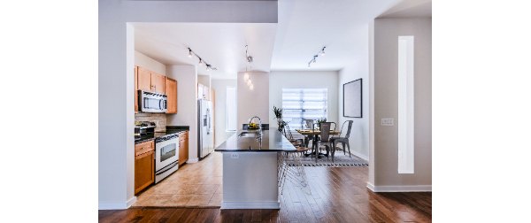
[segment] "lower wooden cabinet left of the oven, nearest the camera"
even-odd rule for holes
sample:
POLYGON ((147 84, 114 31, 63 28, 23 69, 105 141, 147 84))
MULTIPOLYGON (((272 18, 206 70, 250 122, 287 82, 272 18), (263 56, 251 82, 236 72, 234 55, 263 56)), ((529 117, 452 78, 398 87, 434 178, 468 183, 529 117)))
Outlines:
POLYGON ((135 194, 155 181, 155 143, 135 144, 135 194))

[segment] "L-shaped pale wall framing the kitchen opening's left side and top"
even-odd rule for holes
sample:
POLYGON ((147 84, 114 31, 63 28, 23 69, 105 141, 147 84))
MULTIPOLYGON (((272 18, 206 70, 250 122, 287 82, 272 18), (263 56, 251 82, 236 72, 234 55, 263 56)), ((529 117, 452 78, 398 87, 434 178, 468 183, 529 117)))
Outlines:
POLYGON ((277 21, 276 1, 98 1, 98 209, 135 202, 135 30, 127 22, 277 21))

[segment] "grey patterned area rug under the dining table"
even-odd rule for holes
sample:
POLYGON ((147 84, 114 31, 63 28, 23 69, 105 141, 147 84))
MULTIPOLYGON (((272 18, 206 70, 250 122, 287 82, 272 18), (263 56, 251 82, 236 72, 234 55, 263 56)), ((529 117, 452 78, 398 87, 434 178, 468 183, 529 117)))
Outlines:
MULTIPOLYGON (((354 155, 351 155, 351 157, 349 157, 349 152, 347 152, 346 155, 343 155, 342 150, 335 150, 334 163, 332 162, 331 155, 329 156, 329 158, 325 156, 320 156, 320 158, 317 159, 317 163, 315 162, 315 156, 303 156, 298 158, 301 159, 301 163, 304 166, 369 166, 368 162, 362 158, 358 158, 354 155)), ((288 158, 286 162, 289 165, 295 165, 293 158, 288 158)))

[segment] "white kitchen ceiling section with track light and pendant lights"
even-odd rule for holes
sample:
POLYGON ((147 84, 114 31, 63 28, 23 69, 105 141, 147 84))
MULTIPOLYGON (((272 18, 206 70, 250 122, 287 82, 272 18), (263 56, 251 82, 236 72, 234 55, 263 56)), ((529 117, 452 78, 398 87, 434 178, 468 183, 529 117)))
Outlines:
POLYGON ((189 50, 218 68, 200 74, 214 79, 235 79, 236 73, 251 69, 269 72, 277 24, 271 23, 135 23, 135 50, 165 65, 197 65, 189 50), (245 45, 253 57, 245 59, 245 45))

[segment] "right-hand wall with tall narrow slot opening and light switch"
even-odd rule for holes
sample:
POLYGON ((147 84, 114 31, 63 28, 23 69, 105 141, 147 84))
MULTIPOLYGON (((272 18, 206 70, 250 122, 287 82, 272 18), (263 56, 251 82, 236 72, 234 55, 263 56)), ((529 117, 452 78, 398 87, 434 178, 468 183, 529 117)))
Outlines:
POLYGON ((376 190, 431 190, 431 19, 374 19, 373 26, 374 175, 369 183, 376 190), (415 168, 407 174, 397 172, 398 35, 415 36, 415 168), (381 126, 381 118, 395 119, 395 126, 381 126))

